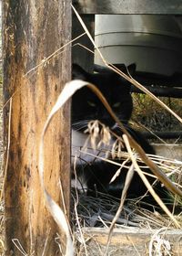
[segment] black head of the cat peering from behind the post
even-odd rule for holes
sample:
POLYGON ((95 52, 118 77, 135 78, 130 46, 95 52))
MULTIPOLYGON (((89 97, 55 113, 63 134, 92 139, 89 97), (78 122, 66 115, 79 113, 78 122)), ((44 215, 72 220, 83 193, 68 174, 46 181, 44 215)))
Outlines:
MULTIPOLYGON (((104 94, 117 117, 127 123, 131 117, 133 104, 130 84, 126 80, 113 71, 90 74, 76 64, 73 65, 73 79, 95 84, 104 94)), ((98 100, 94 92, 85 87, 76 91, 73 97, 72 124, 75 129, 86 129, 87 123, 91 120, 99 120, 110 128, 115 124, 103 103, 98 100)))

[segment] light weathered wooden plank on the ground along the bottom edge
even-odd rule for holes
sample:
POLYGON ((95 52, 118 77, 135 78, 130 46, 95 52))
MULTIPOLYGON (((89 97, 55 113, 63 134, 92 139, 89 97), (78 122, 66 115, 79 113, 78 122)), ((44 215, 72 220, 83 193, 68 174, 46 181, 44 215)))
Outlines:
MULTIPOLYGON (((154 229, 114 229, 107 255, 146 256, 149 251, 149 242, 152 239, 152 236, 155 233, 157 234, 157 232, 158 230, 154 229)), ((87 240, 87 255, 103 255, 106 250, 108 229, 86 228, 84 229, 84 236, 87 240)), ((159 232, 157 237, 166 240, 168 244, 170 244, 170 255, 182 255, 182 231, 180 229, 163 230, 159 232)), ((155 242, 157 243, 156 240, 155 242)), ((156 254, 155 251, 153 251, 153 253, 154 255, 159 255, 156 254)), ((161 255, 163 255, 163 253, 161 255)), ((164 253, 164 255, 166 254, 164 253)))

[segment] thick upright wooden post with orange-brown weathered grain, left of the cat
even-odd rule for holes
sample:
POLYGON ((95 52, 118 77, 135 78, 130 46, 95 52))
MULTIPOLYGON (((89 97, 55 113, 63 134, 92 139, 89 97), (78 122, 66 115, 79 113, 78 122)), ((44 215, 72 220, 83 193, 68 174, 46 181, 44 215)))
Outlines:
MULTIPOLYGON (((17 240, 27 255, 59 255, 55 241, 59 230, 45 208, 37 160, 40 133, 46 117, 66 81, 71 78, 70 48, 45 65, 34 68, 70 41, 70 3, 71 0, 4 1, 5 102, 13 96, 5 183, 5 255, 8 256, 23 255, 15 247, 17 240)), ((60 204, 61 180, 67 214, 70 196, 69 118, 67 103, 56 114, 45 136, 45 185, 60 204)), ((4 110, 5 144, 8 119, 9 103, 4 110)))

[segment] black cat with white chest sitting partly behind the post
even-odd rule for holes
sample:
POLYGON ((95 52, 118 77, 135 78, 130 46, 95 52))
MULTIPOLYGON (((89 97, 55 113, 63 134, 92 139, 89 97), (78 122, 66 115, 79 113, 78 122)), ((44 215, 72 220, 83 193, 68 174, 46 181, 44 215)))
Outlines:
MULTIPOLYGON (((135 72, 136 65, 132 64, 122 71, 132 75, 135 72)), ((108 71, 103 73, 90 74, 78 65, 73 65, 73 80, 86 80, 96 85, 96 87, 104 94, 106 100, 116 113, 120 121, 125 125, 126 130, 135 138, 136 142, 141 145, 147 154, 155 154, 154 148, 147 143, 143 136, 136 132, 128 125, 128 121, 131 117, 133 110, 133 102, 130 93, 130 83, 117 75, 114 71, 108 71)), ((122 136, 122 132, 118 128, 117 124, 110 117, 109 113, 101 101, 98 100, 96 95, 87 88, 81 89, 76 92, 72 101, 72 155, 75 155, 75 146, 83 146, 87 134, 84 133, 87 127, 87 123, 91 120, 99 120, 106 124, 111 131, 117 135, 122 136)), ((115 142, 112 138, 110 146, 115 142)), ((89 151, 88 151, 89 152, 89 151)), ((93 150, 90 151, 93 153, 93 150)), ((98 152, 97 152, 98 153, 98 152)), ((103 156, 103 155, 101 155, 103 156)), ((106 161, 95 158, 94 156, 80 154, 79 160, 76 164, 76 169, 79 173, 82 171, 82 177, 86 183, 87 193, 92 196, 96 196, 98 192, 108 193, 114 197, 120 197, 122 189, 124 187, 126 178, 126 168, 123 168, 120 175, 116 177, 113 183, 110 183, 111 178, 116 174, 118 166, 109 164, 106 161)), ((116 160, 119 163, 121 160, 116 160)), ((149 169, 145 169, 150 172, 149 169)), ((150 183, 153 183, 155 179, 150 177, 150 183)), ((166 196, 166 189, 159 188, 160 196, 166 196)), ((135 173, 131 185, 127 191, 127 197, 140 197, 147 192, 146 186, 142 180, 135 173)), ((154 202, 152 197, 148 196, 149 202, 154 202)), ((147 199, 146 199, 147 201, 147 199)))

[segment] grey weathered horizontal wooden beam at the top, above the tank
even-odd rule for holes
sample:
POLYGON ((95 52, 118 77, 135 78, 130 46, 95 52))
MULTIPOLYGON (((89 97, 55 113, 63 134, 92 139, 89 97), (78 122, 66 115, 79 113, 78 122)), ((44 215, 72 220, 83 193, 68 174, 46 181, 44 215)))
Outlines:
POLYGON ((181 0, 74 0, 80 14, 181 15, 181 0))

